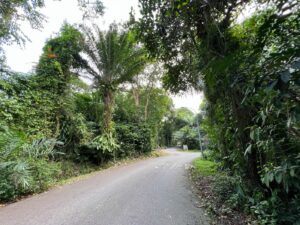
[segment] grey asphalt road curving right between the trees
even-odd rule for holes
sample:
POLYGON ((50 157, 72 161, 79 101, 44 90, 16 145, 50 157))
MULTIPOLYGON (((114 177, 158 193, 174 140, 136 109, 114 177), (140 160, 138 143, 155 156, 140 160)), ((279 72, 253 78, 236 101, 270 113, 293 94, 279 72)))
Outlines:
POLYGON ((199 154, 168 151, 2 207, 0 225, 207 225, 187 177, 199 154))

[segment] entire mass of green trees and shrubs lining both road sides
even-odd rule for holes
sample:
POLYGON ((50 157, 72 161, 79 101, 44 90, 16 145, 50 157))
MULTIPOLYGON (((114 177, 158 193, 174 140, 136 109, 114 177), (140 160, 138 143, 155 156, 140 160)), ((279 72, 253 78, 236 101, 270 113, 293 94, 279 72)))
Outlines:
MULTIPOLYGON (((297 224, 299 1, 139 2, 138 20, 106 31, 65 24, 32 74, 20 74, 2 48, 26 42, 18 21, 41 28, 44 1, 1 1, 0 200, 158 145, 201 148, 205 135, 224 179, 236 181, 235 207, 261 224, 297 224), (202 90, 201 113, 172 110, 160 79, 175 93, 202 90)), ((84 19, 103 14, 94 3, 78 1, 84 19)))

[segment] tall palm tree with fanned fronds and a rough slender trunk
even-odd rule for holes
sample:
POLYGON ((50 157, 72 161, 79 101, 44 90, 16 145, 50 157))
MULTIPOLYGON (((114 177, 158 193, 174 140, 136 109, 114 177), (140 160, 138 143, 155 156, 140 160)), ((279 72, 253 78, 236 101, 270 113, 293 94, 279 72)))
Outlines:
POLYGON ((112 130, 114 95, 120 84, 131 81, 145 66, 145 54, 130 31, 113 24, 108 31, 83 28, 85 73, 93 77, 104 103, 103 132, 112 130))

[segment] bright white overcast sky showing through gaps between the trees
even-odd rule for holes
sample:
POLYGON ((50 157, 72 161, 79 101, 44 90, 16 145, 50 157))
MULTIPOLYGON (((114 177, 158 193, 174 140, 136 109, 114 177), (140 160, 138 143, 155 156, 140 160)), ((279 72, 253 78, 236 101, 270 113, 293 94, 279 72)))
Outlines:
MULTIPOLYGON (((102 0, 105 6, 103 18, 97 20, 100 28, 107 28, 112 22, 124 22, 129 18, 131 7, 138 12, 138 0, 102 0)), ((66 21, 70 24, 82 23, 82 13, 77 0, 46 0, 46 7, 41 12, 47 17, 44 28, 33 30, 27 23, 21 23, 21 29, 31 40, 24 47, 13 44, 5 47, 7 64, 18 72, 30 72, 37 63, 47 38, 59 31, 66 21)), ((187 93, 183 96, 172 96, 175 108, 188 107, 198 111, 203 95, 187 93)))

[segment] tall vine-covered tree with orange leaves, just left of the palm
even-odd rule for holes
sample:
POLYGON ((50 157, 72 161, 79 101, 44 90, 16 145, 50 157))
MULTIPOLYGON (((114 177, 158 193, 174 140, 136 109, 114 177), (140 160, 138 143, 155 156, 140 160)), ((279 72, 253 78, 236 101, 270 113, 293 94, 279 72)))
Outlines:
POLYGON ((71 80, 78 79, 75 69, 85 62, 79 55, 81 50, 81 33, 73 26, 64 24, 59 34, 46 42, 36 67, 37 88, 52 100, 55 136, 60 134, 62 120, 69 114, 71 80))

